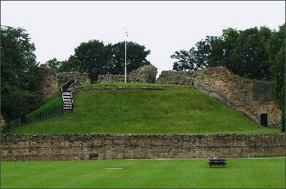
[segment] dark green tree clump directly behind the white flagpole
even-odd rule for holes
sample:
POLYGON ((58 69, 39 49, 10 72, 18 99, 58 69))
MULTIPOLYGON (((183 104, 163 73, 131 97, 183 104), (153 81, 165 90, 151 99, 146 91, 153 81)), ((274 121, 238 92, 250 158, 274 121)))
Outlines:
MULTIPOLYGON (((145 51, 145 46, 127 42, 127 71, 150 64, 146 60, 149 54, 150 51, 145 51)), ((124 74, 125 42, 107 45, 98 40, 83 42, 75 48, 75 54, 60 66, 60 70, 64 66, 87 73, 92 82, 98 80, 98 75, 124 74)))

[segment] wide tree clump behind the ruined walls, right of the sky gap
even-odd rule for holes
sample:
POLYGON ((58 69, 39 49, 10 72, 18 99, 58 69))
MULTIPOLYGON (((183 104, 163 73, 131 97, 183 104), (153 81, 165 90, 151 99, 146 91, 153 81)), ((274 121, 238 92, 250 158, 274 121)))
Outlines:
POLYGON ((221 36, 206 36, 190 51, 176 51, 171 57, 179 61, 174 62, 173 69, 224 66, 241 77, 269 80, 271 73, 266 46, 271 33, 267 27, 227 28, 222 30, 221 36))

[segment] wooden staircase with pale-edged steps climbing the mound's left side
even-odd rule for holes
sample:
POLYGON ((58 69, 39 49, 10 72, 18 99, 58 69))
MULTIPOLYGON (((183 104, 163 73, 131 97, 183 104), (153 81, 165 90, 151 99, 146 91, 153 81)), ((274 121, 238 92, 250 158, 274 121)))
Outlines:
POLYGON ((73 96, 71 94, 71 88, 75 84, 75 80, 69 80, 62 86, 62 102, 64 108, 64 114, 73 111, 73 96))

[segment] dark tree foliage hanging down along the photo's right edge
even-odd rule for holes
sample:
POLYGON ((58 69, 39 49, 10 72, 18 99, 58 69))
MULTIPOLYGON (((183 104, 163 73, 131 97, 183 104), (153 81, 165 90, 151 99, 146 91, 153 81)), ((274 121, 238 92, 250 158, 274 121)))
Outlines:
POLYGON ((281 130, 285 132, 285 45, 286 25, 279 27, 277 33, 271 35, 267 50, 270 53, 271 73, 276 80, 274 93, 282 111, 281 130))

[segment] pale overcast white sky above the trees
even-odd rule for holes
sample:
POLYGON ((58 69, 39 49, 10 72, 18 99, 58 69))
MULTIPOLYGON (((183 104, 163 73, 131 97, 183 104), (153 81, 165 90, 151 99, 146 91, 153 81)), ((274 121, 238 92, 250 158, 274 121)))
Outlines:
POLYGON ((26 29, 40 63, 66 60, 90 39, 122 42, 126 27, 127 40, 150 49, 159 73, 172 70, 175 51, 225 28, 284 23, 285 1, 1 1, 1 25, 26 29))

